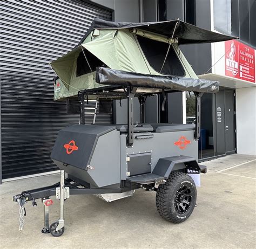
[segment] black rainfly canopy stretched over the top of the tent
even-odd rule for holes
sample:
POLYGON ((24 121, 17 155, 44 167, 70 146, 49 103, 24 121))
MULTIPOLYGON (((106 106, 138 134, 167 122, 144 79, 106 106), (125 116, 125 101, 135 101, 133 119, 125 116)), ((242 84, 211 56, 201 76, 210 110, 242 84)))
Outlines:
POLYGON ((215 33, 202 29, 201 27, 194 26, 189 23, 185 23, 179 19, 168 20, 165 22, 147 22, 147 23, 127 23, 127 22, 110 22, 95 18, 90 26, 90 29, 85 33, 84 37, 80 41, 79 45, 82 44, 83 40, 88 34, 95 29, 99 30, 111 30, 111 29, 129 29, 137 27, 139 29, 150 31, 153 33, 162 34, 167 37, 172 37, 174 27, 176 26, 174 37, 177 37, 178 44, 192 44, 192 43, 215 43, 217 41, 225 41, 237 39, 237 37, 225 36, 224 34, 215 33))

